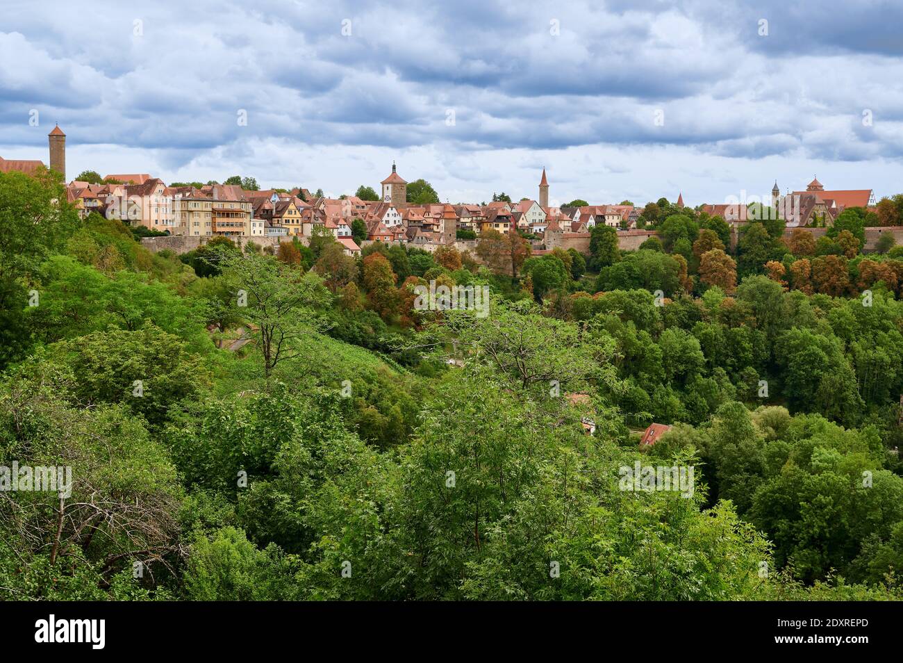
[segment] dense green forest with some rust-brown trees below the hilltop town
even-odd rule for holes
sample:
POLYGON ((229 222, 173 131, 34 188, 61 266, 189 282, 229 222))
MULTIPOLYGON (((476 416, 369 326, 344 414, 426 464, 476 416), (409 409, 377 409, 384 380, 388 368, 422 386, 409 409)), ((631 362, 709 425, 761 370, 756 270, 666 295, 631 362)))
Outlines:
POLYGON ((7 600, 903 596, 903 248, 863 255, 862 210, 177 256, 65 200, 0 173, 0 466, 72 479, 0 481, 7 600), (637 462, 692 494, 622 490, 637 462))

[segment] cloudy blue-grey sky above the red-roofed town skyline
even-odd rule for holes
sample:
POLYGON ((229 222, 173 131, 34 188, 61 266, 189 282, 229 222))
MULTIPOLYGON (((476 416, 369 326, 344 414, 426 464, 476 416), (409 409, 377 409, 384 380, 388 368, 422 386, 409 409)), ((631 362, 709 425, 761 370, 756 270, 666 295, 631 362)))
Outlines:
POLYGON ((69 179, 242 174, 339 195, 395 160, 452 202, 535 197, 544 166, 559 203, 695 205, 814 174, 903 191, 898 1, 0 10, 0 156, 47 163, 59 123, 69 179))

